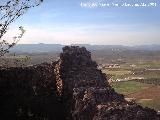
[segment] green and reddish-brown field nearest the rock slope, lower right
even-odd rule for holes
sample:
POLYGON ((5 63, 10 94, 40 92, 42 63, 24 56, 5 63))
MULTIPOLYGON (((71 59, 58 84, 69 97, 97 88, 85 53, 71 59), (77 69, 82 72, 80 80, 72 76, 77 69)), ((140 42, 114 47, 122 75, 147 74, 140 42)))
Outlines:
POLYGON ((160 110, 160 86, 127 81, 112 83, 112 87, 144 107, 160 110))

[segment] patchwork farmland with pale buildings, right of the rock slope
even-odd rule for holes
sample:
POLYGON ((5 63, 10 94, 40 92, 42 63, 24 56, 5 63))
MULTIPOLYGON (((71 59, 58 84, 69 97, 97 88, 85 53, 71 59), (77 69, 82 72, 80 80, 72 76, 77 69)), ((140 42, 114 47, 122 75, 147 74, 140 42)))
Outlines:
POLYGON ((102 71, 111 76, 116 92, 124 94, 138 104, 160 110, 160 62, 140 61, 121 64, 119 68, 102 71))

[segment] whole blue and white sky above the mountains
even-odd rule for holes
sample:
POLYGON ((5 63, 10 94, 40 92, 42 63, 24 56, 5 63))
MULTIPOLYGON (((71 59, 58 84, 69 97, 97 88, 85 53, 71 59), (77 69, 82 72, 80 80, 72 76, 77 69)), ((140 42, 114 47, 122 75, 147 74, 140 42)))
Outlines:
POLYGON ((18 26, 26 30, 20 44, 160 44, 160 4, 158 0, 44 0, 16 20, 8 35, 16 34, 18 26), (156 4, 120 6, 125 2, 156 4))

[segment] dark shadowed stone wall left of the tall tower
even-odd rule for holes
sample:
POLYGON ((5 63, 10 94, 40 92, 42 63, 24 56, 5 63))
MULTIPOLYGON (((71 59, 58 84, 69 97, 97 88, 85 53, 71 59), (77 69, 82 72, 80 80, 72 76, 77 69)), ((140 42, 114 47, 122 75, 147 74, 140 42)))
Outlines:
POLYGON ((0 120, 64 119, 53 64, 0 70, 0 120))

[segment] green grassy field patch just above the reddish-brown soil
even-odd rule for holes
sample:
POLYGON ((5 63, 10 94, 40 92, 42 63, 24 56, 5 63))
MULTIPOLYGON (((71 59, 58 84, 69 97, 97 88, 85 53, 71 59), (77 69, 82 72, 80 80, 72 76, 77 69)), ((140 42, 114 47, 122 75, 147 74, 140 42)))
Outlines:
POLYGON ((115 82, 111 84, 117 93, 128 95, 150 87, 148 84, 135 81, 115 82))

